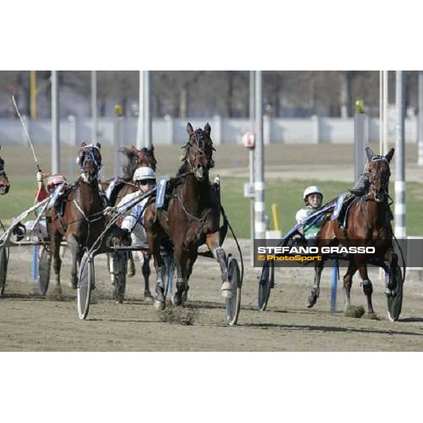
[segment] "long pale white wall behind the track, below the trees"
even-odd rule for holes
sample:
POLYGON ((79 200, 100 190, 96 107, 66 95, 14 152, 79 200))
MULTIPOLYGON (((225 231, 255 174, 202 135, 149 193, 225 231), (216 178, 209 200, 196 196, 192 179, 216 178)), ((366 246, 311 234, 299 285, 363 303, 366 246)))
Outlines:
MULTIPOLYGON (((123 142, 135 144, 137 139, 137 118, 99 118, 97 141, 112 145, 114 126, 121 119, 123 142)), ((216 145, 241 144, 243 134, 250 130, 250 121, 243 118, 154 118, 152 138, 156 145, 183 144, 187 140, 185 125, 203 127, 206 122, 212 125, 212 138, 216 145)), ((37 119, 26 121, 31 140, 35 143, 48 143, 51 140, 51 121, 37 119)), ((69 116, 60 121, 60 140, 68 145, 79 145, 82 140, 91 139, 91 118, 69 116)), ((366 116, 364 143, 379 142, 379 118, 366 116)), ((354 118, 269 118, 264 116, 264 143, 285 144, 352 144, 354 140, 354 118)), ((405 142, 417 143, 417 117, 405 120, 405 142)), ((388 140, 395 140, 395 122, 388 128, 388 140)), ((26 144, 23 128, 18 119, 0 119, 0 144, 22 142, 26 144)))

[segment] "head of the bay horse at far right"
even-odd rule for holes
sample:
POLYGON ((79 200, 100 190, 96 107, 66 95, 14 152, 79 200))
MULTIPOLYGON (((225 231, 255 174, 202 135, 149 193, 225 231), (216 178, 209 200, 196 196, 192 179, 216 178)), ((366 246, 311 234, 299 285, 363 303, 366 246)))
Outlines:
POLYGON ((369 160, 369 194, 372 194, 376 202, 384 202, 388 199, 389 177, 391 170, 389 163, 395 149, 391 148, 386 154, 377 155, 369 147, 366 148, 367 159, 369 160))

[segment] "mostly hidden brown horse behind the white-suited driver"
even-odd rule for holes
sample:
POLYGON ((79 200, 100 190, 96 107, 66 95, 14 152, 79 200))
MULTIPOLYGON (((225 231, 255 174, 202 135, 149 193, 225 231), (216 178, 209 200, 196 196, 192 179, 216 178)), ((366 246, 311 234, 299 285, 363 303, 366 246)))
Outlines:
MULTIPOLYGON (((116 185, 111 190, 109 195, 109 205, 114 207, 118 204, 123 197, 127 194, 135 192, 137 189, 133 183, 133 176, 137 168, 147 166, 156 171, 157 159, 154 156, 154 145, 151 147, 142 147, 137 149, 135 145, 130 147, 123 147, 120 149, 126 157, 126 164, 123 166, 123 177, 116 180, 116 185)), ((101 183, 102 189, 107 191, 112 180, 101 183)), ((152 254, 148 250, 142 251, 143 262, 142 262, 142 276, 144 277, 144 300, 147 302, 153 302, 153 297, 149 290, 149 276, 151 274, 149 262, 152 258, 152 254)), ((110 255, 109 260, 110 260, 110 255)), ((133 262, 132 254, 128 255, 128 265, 131 267, 129 276, 135 275, 135 263, 133 262)), ((112 283, 114 283, 114 274, 111 272, 112 283)))

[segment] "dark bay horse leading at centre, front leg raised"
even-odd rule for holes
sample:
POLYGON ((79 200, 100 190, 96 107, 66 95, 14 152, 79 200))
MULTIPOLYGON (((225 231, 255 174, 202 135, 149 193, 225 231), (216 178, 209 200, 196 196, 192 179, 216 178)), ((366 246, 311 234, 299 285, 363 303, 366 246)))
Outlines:
POLYGON ((152 203, 145 212, 145 228, 149 250, 154 256, 157 271, 154 307, 164 309, 164 259, 160 245, 168 236, 173 243, 173 260, 177 270, 176 291, 171 299, 173 305, 182 305, 187 298, 188 280, 192 273, 198 247, 207 244, 221 268, 221 295, 230 298, 231 283, 228 280, 226 253, 221 247, 219 221, 221 205, 214 185, 210 184, 209 169, 214 166, 212 128, 193 130, 187 124, 188 142, 183 155, 183 165, 168 183, 166 209, 156 209, 152 203))

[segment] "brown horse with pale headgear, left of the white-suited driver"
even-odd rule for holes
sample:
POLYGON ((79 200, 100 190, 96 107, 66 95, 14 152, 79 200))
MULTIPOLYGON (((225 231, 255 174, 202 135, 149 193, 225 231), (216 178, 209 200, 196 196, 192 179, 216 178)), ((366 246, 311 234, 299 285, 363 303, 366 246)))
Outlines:
POLYGON ((65 238, 72 252, 71 286, 77 287, 77 264, 83 255, 83 248, 90 248, 104 229, 104 202, 99 192, 98 173, 102 167, 100 145, 82 142, 78 163, 81 176, 64 193, 63 212, 61 205, 52 207, 47 214, 47 230, 51 239, 51 254, 54 259, 56 284, 60 286, 61 240, 65 238))

